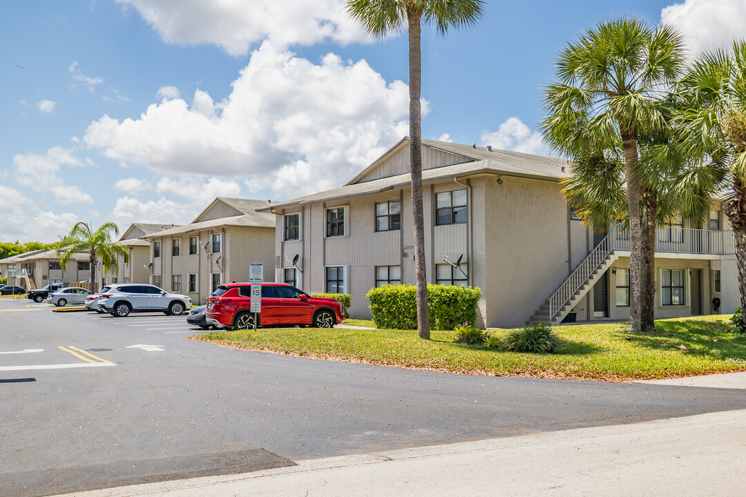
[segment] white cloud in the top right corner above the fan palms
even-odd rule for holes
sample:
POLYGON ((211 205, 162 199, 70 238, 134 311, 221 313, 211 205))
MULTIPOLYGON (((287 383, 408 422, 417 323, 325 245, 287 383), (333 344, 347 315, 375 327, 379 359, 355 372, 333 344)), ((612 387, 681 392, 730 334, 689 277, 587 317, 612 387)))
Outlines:
POLYGON ((746 37, 746 1, 685 0, 665 7, 664 24, 675 25, 686 37, 692 54, 709 48, 730 48, 733 39, 746 37))

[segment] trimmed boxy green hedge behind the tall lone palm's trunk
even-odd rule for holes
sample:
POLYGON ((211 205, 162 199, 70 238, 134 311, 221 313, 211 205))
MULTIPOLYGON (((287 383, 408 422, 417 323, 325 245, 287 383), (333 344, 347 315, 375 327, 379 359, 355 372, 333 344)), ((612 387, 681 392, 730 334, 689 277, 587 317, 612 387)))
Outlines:
MULTIPOLYGON (((455 329, 474 326, 479 288, 427 285, 427 313, 430 329, 455 329)), ((386 285, 372 288, 370 301, 377 328, 417 329, 417 290, 414 285, 386 285)))

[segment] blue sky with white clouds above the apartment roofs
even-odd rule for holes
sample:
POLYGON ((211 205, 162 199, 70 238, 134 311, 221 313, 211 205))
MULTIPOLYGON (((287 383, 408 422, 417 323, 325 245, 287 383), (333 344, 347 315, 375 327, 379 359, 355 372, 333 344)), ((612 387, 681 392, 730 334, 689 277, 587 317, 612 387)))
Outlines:
MULTIPOLYGON (((746 35, 743 0, 620 5, 487 1, 425 31, 423 136, 548 153, 542 86, 604 19, 675 23, 693 51, 746 35)), ((406 36, 367 39, 339 0, 7 2, 0 43, 0 241, 333 188, 408 130, 406 36)))

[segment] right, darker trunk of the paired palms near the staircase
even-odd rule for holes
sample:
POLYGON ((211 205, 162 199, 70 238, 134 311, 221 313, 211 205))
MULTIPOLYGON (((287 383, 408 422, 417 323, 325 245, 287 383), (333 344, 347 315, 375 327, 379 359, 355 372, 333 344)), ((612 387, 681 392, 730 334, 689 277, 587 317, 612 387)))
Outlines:
POLYGON ((655 331, 655 235, 658 215, 658 192, 642 191, 642 227, 640 243, 642 274, 640 278, 640 329, 655 331))

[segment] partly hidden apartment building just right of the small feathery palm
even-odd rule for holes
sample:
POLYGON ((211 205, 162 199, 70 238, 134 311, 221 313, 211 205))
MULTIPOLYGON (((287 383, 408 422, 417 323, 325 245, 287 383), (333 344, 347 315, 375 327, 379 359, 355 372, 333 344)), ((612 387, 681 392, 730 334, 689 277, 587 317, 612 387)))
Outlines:
MULTIPOLYGON (((115 272, 107 271, 101 275, 101 287, 108 283, 148 283, 150 282, 151 247, 150 242, 143 240, 145 235, 172 229, 178 227, 175 224, 149 224, 133 223, 128 227, 122 236, 119 237, 119 243, 130 250, 130 259, 125 262, 124 258, 117 254, 117 269, 115 272)), ((101 274, 101 273, 99 273, 101 274)))

